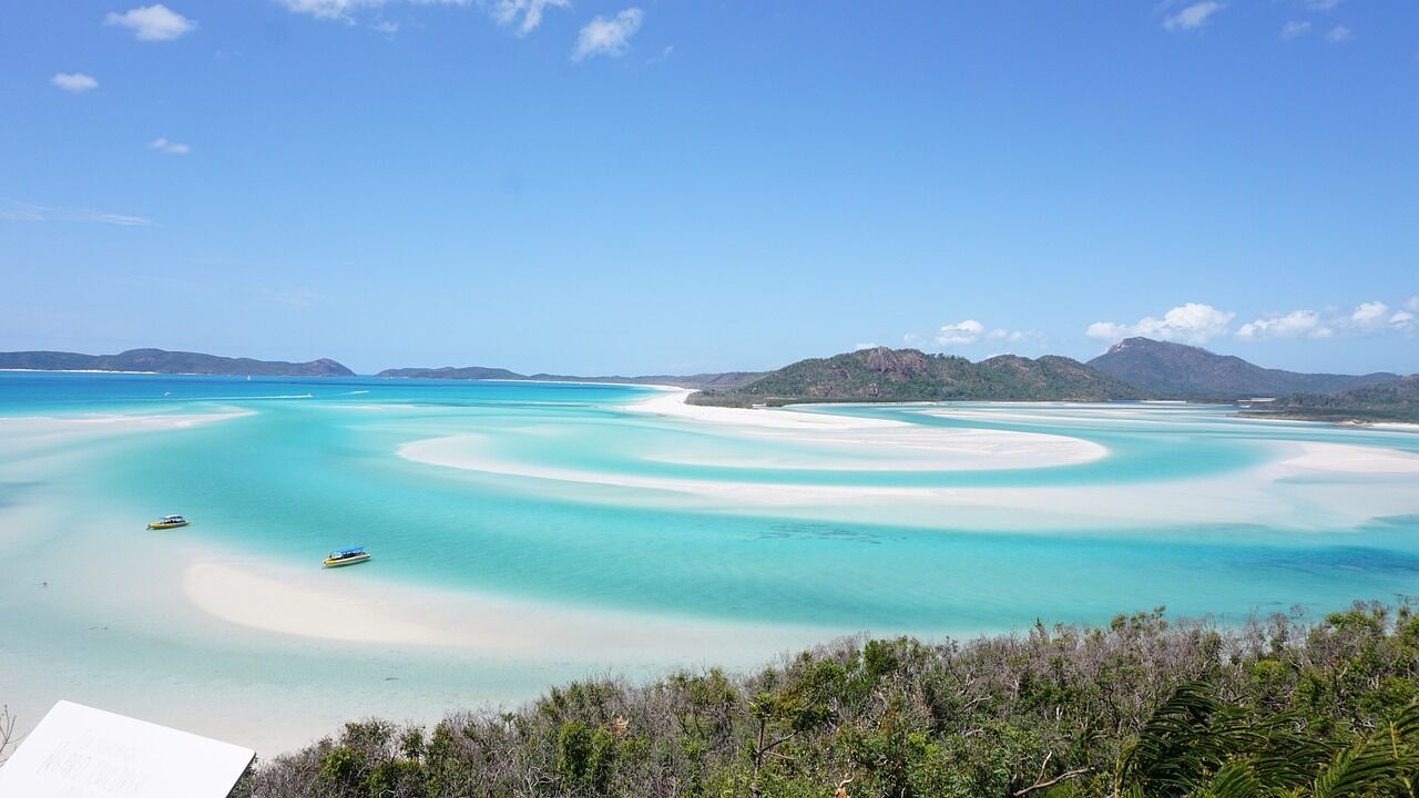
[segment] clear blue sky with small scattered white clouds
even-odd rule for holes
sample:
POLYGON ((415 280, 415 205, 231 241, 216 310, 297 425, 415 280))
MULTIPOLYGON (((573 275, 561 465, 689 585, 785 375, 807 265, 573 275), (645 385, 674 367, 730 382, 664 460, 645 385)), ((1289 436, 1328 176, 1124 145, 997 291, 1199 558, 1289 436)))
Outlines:
POLYGON ((14 0, 0 349, 1419 371, 1419 3, 14 0))

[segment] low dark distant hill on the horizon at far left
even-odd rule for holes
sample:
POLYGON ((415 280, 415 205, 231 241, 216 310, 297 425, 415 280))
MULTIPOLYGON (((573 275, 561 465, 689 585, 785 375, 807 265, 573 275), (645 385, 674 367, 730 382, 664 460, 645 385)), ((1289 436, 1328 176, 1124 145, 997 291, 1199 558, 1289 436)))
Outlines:
POLYGON ((0 369, 128 371, 231 376, 355 376, 355 372, 328 358, 305 364, 288 364, 285 361, 223 358, 200 352, 169 352, 166 349, 129 349, 116 355, 0 352, 0 369))

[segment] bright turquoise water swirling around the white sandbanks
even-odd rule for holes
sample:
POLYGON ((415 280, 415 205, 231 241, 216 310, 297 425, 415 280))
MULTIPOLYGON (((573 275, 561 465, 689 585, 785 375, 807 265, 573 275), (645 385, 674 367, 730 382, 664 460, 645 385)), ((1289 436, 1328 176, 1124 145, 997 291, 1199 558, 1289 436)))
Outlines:
MULTIPOLYGON (((1304 531, 1256 518, 1188 524, 1165 515, 1097 530, 1077 520, 982 530, 954 525, 945 510, 929 524, 902 523, 890 500, 873 508, 871 523, 830 510, 822 517, 802 508, 728 511, 664 491, 396 456, 414 440, 467 433, 501 459, 602 474, 946 490, 1103 486, 1112 488, 1110 501, 1128 504, 1144 488, 1242 480, 1274 460, 1279 443, 1419 452, 1412 433, 1267 425, 1229 417, 1225 408, 955 405, 952 416, 853 406, 812 412, 1047 432, 1100 443, 1110 454, 1076 466, 965 471, 704 466, 692 464, 695 452, 772 454, 792 444, 627 409, 647 395, 600 385, 3 373, 0 416, 250 415, 55 443, 51 453, 82 467, 41 469, 34 479, 17 476, 31 449, 0 450, 0 467, 9 466, 0 503, 58 486, 71 510, 131 517, 136 527, 150 515, 186 513, 196 523, 183 540, 214 550, 304 564, 363 544, 376 554, 370 572, 410 584, 843 632, 1097 622, 1156 605, 1242 619, 1419 592, 1413 474, 1315 477, 1330 487, 1384 484, 1412 500, 1409 513, 1330 528, 1328 514, 1365 508, 1317 504, 1307 513, 1320 528, 1304 531), (666 463, 663 454, 690 463, 666 463)), ((1298 480, 1290 479, 1291 487, 1298 480)))

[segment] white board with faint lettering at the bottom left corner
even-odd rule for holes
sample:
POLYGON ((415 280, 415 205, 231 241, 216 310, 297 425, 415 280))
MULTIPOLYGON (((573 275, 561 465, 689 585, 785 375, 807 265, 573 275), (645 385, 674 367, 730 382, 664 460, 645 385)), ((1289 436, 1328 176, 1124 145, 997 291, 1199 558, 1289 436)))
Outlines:
POLYGON ((4 765, 0 798, 226 798, 255 751, 60 701, 4 765))

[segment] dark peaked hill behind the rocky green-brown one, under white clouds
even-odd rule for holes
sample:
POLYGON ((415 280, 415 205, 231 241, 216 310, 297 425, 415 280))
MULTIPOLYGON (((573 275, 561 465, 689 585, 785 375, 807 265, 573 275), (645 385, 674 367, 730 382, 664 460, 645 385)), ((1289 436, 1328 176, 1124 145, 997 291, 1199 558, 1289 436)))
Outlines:
POLYGON ((1301 373, 1266 369, 1199 346, 1127 338, 1088 365, 1164 399, 1249 399, 1298 392, 1331 392, 1389 382, 1396 373, 1301 373))

